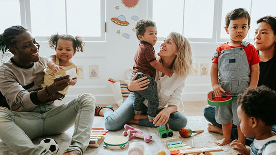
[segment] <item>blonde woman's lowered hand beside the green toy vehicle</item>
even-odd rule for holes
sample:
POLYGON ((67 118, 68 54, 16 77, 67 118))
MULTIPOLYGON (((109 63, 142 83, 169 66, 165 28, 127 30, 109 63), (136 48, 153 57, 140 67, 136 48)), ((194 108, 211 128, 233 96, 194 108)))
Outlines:
POLYGON ((166 125, 168 123, 168 121, 169 121, 170 115, 171 115, 170 109, 168 107, 164 108, 153 119, 153 124, 155 126, 159 126, 159 125, 164 126, 164 125, 166 125))

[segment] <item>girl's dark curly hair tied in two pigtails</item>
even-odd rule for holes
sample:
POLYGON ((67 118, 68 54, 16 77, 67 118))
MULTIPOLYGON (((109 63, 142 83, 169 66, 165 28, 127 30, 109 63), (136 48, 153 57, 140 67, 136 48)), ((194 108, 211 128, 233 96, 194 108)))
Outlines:
POLYGON ((70 40, 73 42, 73 48, 77 50, 77 52, 83 52, 83 46, 84 42, 82 41, 81 37, 75 36, 69 34, 53 34, 51 37, 49 37, 49 45, 51 48, 55 48, 58 45, 58 40, 64 39, 64 40, 70 40))

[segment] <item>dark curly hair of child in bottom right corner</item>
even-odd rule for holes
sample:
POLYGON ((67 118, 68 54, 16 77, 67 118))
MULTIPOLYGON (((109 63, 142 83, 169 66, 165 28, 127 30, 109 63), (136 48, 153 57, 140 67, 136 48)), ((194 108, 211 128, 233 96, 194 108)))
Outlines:
POLYGON ((260 119, 268 126, 276 124, 276 92, 268 87, 246 89, 238 96, 237 103, 248 117, 260 119))

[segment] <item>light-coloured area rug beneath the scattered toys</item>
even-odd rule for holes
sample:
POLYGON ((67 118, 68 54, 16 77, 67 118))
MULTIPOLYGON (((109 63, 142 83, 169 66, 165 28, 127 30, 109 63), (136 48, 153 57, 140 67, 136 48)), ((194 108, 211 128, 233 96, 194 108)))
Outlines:
MULTIPOLYGON (((178 131, 173 131, 173 137, 168 138, 160 138, 158 136, 158 130, 156 128, 151 127, 144 127, 130 124, 134 127, 138 127, 143 131, 145 135, 150 134, 152 135, 152 141, 149 143, 145 143, 143 139, 136 138, 129 141, 129 145, 133 142, 139 142, 144 145, 145 148, 145 155, 157 155, 158 151, 164 150, 166 151, 166 155, 170 155, 169 151, 166 149, 165 140, 169 138, 176 138, 179 137, 180 140, 187 144, 188 146, 192 145, 192 141, 194 142, 194 147, 207 147, 207 146, 215 146, 214 141, 222 139, 222 135, 211 133, 207 131, 207 121, 203 116, 188 116, 188 124, 187 127, 191 128, 192 130, 204 130, 203 133, 193 133, 189 138, 182 138, 179 135, 178 131)), ((104 127, 104 118, 103 117, 95 117, 93 126, 94 127, 104 127)), ((66 132, 56 135, 56 136, 48 136, 47 138, 53 138, 59 144, 59 152, 57 155, 62 155, 63 151, 67 149, 69 145, 71 135, 73 133, 74 127, 72 126, 66 132)), ((105 137, 110 135, 122 135, 124 130, 119 130, 116 132, 109 131, 105 137)), ((41 137, 35 139, 33 142, 34 144, 38 144, 42 139, 45 137, 41 137)), ((228 145, 222 146, 221 149, 223 152, 213 152, 212 155, 237 155, 234 150, 228 145)), ((128 154, 128 147, 125 149, 120 150, 109 150, 103 148, 101 144, 99 147, 88 147, 84 153, 84 155, 127 155, 128 154)), ((8 148, 8 146, 0 140, 0 155, 16 155, 12 150, 8 148)))

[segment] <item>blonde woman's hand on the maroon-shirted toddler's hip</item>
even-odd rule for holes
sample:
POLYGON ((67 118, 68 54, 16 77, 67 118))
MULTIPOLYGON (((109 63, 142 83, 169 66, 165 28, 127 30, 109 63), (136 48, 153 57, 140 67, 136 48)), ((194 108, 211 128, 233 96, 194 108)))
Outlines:
POLYGON ((139 78, 138 80, 135 80, 137 77, 137 73, 135 76, 131 79, 130 83, 128 84, 128 89, 130 91, 142 91, 147 89, 147 86, 149 84, 149 79, 147 77, 139 78))

